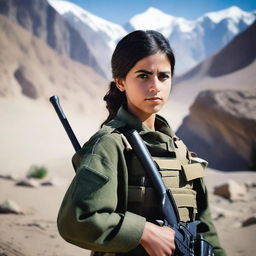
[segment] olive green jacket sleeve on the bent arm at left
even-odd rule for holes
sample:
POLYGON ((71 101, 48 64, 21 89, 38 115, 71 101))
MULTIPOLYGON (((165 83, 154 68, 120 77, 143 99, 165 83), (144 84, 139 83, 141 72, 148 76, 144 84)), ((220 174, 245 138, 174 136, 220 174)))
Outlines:
POLYGON ((146 220, 122 210, 127 195, 117 192, 125 168, 120 145, 111 136, 85 150, 58 214, 66 241, 103 252, 127 252, 139 244, 146 220))

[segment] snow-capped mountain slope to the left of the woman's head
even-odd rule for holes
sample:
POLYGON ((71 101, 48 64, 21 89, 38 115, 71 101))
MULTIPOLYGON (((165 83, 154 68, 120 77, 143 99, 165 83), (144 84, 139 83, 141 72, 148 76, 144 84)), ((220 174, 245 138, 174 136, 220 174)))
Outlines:
POLYGON ((97 17, 81 7, 60 0, 48 0, 49 4, 82 36, 100 67, 110 76, 110 58, 117 41, 127 32, 118 24, 97 17))

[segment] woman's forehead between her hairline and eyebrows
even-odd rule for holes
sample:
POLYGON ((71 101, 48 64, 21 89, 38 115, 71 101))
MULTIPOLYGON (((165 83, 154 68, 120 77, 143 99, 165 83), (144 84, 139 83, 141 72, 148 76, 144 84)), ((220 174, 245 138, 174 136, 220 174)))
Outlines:
POLYGON ((138 69, 146 70, 165 70, 169 71, 171 69, 171 64, 169 58, 165 53, 155 53, 153 55, 147 56, 139 60, 131 69, 131 71, 136 71, 138 69))

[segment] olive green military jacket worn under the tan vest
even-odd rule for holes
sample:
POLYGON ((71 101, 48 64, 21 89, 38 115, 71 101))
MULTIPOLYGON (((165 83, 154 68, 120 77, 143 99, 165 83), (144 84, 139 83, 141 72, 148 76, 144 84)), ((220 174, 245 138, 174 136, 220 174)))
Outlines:
MULTIPOLYGON (((135 128, 151 154, 168 152, 174 136, 168 123, 156 117, 156 131, 149 130, 121 107, 73 157, 76 175, 58 214, 58 229, 68 242, 97 252, 129 252, 139 245, 146 218, 127 210, 128 167, 126 144, 118 131, 135 128), (168 138, 168 139, 167 139, 168 138)), ((207 191, 202 179, 197 184, 199 232, 224 256, 210 216, 207 191)), ((132 255, 132 254, 131 254, 132 255)), ((144 254, 146 255, 146 253, 144 254)))

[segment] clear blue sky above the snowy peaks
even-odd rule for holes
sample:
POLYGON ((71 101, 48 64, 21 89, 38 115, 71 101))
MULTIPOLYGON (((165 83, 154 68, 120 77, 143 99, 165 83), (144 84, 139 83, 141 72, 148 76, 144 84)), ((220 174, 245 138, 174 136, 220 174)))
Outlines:
POLYGON ((205 12, 236 5, 245 11, 256 10, 255 0, 69 0, 106 20, 124 25, 132 16, 156 7, 176 17, 194 20, 205 12))

